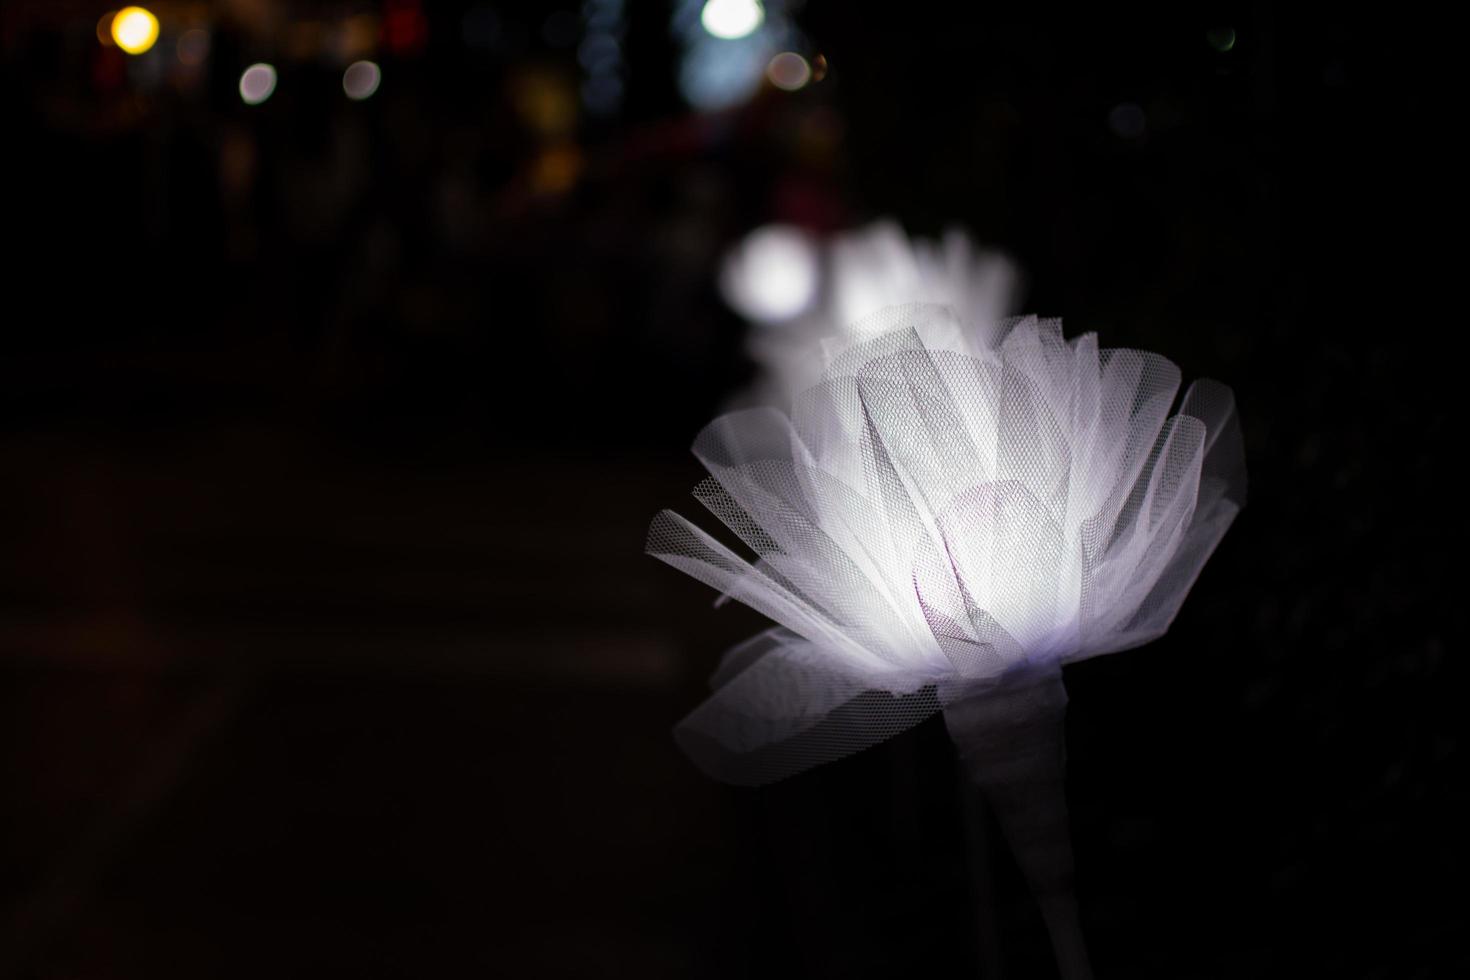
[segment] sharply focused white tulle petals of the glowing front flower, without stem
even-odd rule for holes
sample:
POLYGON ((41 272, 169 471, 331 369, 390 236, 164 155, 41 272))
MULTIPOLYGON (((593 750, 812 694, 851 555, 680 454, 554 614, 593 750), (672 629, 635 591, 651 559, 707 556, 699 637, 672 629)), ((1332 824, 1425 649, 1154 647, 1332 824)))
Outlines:
POLYGON ((660 513, 648 551, 769 616, 676 732, 757 785, 907 729, 1005 671, 1138 646, 1244 504, 1229 388, 1016 320, 885 310, 791 414, 716 419, 695 497, 753 552, 660 513))

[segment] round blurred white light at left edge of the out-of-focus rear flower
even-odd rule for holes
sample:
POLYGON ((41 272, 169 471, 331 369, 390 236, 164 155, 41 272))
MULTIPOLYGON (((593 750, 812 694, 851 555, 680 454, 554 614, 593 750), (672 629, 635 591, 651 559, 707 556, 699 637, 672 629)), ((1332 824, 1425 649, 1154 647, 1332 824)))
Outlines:
POLYGON ((779 323, 811 306, 819 278, 811 239, 789 225, 766 225, 747 235, 726 259, 720 292, 742 316, 779 323))

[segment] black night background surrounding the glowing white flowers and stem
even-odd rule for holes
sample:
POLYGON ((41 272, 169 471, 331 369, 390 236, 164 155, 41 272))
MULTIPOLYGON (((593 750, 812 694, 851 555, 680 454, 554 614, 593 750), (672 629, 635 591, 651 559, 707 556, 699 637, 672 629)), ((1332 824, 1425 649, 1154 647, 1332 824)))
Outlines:
POLYGON ((753 372, 719 256, 883 215, 1239 398, 1172 632, 1067 671, 1097 974, 1470 973, 1445 25, 813 0, 825 79, 698 113, 634 3, 591 116, 556 6, 154 9, 147 71, 0 15, 0 976, 1048 976, 938 718, 759 792, 669 738, 760 626, 641 555, 753 372))

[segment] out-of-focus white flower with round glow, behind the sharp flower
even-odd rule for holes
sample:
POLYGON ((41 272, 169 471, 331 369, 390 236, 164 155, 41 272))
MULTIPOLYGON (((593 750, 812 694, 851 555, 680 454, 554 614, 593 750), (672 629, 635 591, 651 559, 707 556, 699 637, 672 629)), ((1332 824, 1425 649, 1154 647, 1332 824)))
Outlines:
MULTIPOLYGON (((976 248, 961 231, 939 241, 910 239, 879 220, 826 242, 786 225, 767 225, 726 256, 720 292, 753 322, 751 357, 763 367, 761 401, 811 383, 822 353, 863 339, 872 314, 891 306, 932 303, 954 311, 958 332, 929 338, 988 347, 1014 311, 1016 266, 976 248)), ((923 326, 920 326, 923 329, 923 326)))

